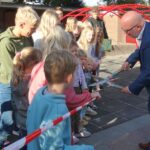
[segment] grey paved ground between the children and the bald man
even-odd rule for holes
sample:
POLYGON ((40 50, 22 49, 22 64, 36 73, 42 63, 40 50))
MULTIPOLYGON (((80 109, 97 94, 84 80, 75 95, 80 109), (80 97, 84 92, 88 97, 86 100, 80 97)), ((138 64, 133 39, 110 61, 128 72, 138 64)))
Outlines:
MULTIPOLYGON (((101 77, 118 70, 131 53, 130 49, 107 53, 101 65, 101 77)), ((115 83, 126 86, 139 73, 139 64, 134 69, 120 73, 115 83)), ((119 89, 106 87, 97 101, 98 115, 87 125, 93 135, 81 143, 95 145, 96 150, 138 150, 140 141, 150 140, 150 117, 147 111, 147 93, 139 96, 121 93, 119 89), (148 138, 149 137, 149 138, 148 138)))

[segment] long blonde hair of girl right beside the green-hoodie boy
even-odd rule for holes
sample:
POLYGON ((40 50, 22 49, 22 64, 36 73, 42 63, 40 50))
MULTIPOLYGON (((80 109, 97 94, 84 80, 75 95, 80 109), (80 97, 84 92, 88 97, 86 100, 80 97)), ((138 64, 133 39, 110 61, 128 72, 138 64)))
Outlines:
POLYGON ((38 29, 42 32, 43 36, 47 36, 57 24, 59 24, 58 15, 55 11, 47 9, 42 14, 38 29))

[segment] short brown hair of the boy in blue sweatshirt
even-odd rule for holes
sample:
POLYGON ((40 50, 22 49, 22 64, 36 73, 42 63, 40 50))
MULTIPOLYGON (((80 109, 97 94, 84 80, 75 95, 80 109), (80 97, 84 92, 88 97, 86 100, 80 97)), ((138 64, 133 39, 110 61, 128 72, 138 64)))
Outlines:
POLYGON ((74 56, 66 50, 52 51, 45 60, 44 72, 49 84, 63 83, 76 68, 74 56))

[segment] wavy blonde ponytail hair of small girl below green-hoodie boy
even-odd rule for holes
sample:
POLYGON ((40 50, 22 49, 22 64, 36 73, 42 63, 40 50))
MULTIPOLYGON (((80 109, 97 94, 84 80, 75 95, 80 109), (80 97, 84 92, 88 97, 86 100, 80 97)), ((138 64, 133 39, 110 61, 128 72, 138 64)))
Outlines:
POLYGON ((24 78, 25 69, 33 67, 42 59, 42 52, 33 47, 26 47, 13 59, 12 84, 17 86, 24 78))

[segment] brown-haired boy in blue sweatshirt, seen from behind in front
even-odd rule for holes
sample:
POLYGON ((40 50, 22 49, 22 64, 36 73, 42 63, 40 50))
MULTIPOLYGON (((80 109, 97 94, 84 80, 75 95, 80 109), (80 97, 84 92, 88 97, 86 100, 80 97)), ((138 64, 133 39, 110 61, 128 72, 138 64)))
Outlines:
MULTIPOLYGON (((73 80, 76 62, 69 52, 52 51, 44 64, 48 85, 35 95, 27 114, 27 130, 31 133, 68 112, 65 96, 62 94, 73 80), (61 66, 61 67, 60 67, 61 66), (38 111, 37 111, 38 110, 38 111)), ((92 146, 71 146, 70 118, 48 129, 28 145, 28 150, 93 150, 92 146)))

